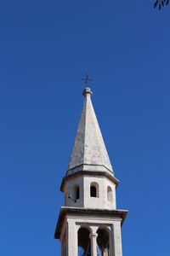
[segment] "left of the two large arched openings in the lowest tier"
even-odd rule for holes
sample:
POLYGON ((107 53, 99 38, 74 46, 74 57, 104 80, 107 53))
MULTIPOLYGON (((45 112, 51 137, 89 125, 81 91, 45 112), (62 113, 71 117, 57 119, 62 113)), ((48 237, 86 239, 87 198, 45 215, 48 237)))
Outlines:
POLYGON ((90 231, 82 227, 78 230, 78 256, 91 256, 90 231))

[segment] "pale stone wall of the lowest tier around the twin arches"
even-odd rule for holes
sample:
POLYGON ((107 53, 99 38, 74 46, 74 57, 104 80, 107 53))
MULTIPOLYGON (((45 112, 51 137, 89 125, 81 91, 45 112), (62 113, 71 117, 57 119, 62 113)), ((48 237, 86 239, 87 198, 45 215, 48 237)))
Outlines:
MULTIPOLYGON (((90 231, 91 243, 92 243, 92 256, 96 256, 96 238, 97 230, 104 228, 108 230, 110 236, 110 255, 122 256, 122 236, 121 236, 121 221, 122 218, 116 216, 66 216, 66 224, 63 226, 62 233, 66 234, 67 248, 66 255, 62 256, 77 256, 77 232, 81 227, 87 227, 90 231)), ((64 239, 64 238, 63 238, 64 239)), ((60 239, 62 242, 62 239, 60 239)))

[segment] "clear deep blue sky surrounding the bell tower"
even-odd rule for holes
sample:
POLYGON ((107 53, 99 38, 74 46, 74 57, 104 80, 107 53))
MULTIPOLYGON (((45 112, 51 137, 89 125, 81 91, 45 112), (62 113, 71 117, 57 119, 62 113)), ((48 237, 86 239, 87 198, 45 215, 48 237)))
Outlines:
POLYGON ((170 255, 170 13, 150 0, 1 1, 0 254, 59 255, 59 191, 93 77, 128 209, 123 256, 170 255))

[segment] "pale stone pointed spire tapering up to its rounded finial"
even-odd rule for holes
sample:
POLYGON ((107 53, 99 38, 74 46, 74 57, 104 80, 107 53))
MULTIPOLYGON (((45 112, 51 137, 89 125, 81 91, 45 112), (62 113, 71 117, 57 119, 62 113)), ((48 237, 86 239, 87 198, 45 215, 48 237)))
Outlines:
POLYGON ((109 172, 113 175, 111 162, 91 102, 92 91, 86 87, 82 95, 84 104, 67 175, 80 171, 109 172))

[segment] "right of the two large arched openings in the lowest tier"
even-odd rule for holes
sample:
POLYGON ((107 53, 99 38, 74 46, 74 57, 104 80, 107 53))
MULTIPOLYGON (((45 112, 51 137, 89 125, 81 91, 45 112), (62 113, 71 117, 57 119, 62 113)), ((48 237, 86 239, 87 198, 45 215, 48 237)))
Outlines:
POLYGON ((110 245, 109 245, 110 234, 108 230, 99 228, 99 230, 97 230, 97 234, 98 234, 97 244, 99 247, 100 255, 110 256, 110 245))

